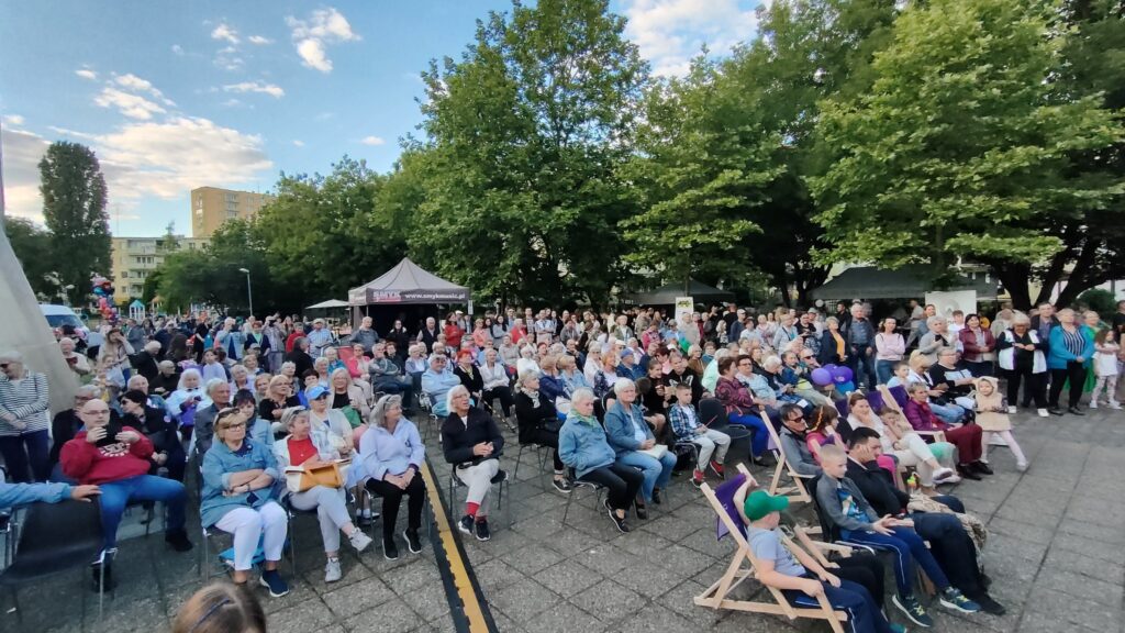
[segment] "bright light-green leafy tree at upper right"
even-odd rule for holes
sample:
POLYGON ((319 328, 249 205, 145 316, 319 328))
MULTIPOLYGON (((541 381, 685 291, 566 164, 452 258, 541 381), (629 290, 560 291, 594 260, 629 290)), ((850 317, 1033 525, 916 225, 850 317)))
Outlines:
POLYGON ((811 182, 827 258, 925 262, 938 279, 958 258, 1002 271, 1059 252, 1048 226, 1120 191, 1073 172, 1074 153, 1119 142, 1122 127, 1095 96, 1053 98, 1068 39, 1050 36, 1056 9, 934 0, 903 11, 871 89, 824 105, 831 167, 811 182))

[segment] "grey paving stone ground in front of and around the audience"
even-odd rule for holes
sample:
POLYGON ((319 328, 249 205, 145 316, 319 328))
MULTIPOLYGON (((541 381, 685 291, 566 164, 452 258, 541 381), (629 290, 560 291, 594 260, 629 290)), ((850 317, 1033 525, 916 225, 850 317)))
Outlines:
MULTIPOLYGON (((1008 614, 953 614, 935 604, 935 630, 1125 633, 1125 413, 1041 419, 1022 412, 1015 434, 1032 460, 1026 473, 1016 472, 1006 448, 993 447, 997 474, 950 491, 988 523, 984 565, 992 595, 1008 614)), ((511 473, 516 448, 512 434, 505 436, 511 448, 502 462, 511 473)), ((449 467, 435 437, 430 440, 446 494, 449 467)), ((732 455, 739 451, 745 456, 745 447, 732 455)), ((524 453, 503 509, 494 509, 492 541, 465 542, 500 631, 827 631, 819 623, 714 612, 692 603, 722 573, 734 545, 716 542, 714 516, 686 475, 673 480, 667 500, 650 508, 649 520, 634 520, 634 531, 622 535, 604 511, 595 511, 585 491, 576 493, 562 525, 567 499, 550 487, 549 471, 549 462, 540 470, 524 453)), ((765 470, 752 472, 765 479, 765 470)), ((460 508, 453 505, 454 519, 460 508)), ((811 523, 807 506, 793 510, 796 520, 811 523)), ((189 516, 198 514, 192 508, 189 516)), ((298 518, 295 532, 302 551, 292 592, 270 599, 260 590, 271 633, 453 630, 429 543, 422 555, 400 546, 395 562, 384 560, 376 546, 360 556, 345 550, 343 579, 325 585, 315 520, 298 518)), ((155 531, 147 538, 124 540, 115 564, 119 587, 106 600, 102 622, 83 570, 81 583, 75 571, 21 589, 22 626, 9 612, 10 594, 0 595, 0 631, 168 631, 179 605, 202 585, 198 528, 190 534, 197 547, 190 554, 166 550, 155 531)), ((290 574, 288 561, 282 564, 290 574)), ((759 590, 746 583, 747 595, 759 590)), ((892 617, 902 622, 897 613, 892 617)))

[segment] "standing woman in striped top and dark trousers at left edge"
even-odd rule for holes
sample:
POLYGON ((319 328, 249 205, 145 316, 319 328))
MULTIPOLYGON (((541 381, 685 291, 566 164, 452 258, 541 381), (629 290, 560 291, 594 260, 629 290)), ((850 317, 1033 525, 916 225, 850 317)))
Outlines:
POLYGON ((47 376, 29 372, 16 350, 0 353, 0 454, 15 483, 47 481, 47 376))

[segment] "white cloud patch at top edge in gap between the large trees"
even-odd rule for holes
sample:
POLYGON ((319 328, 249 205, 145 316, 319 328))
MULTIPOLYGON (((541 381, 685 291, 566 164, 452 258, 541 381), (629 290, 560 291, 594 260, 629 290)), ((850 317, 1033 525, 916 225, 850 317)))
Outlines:
POLYGON ((758 6, 771 0, 622 0, 626 35, 659 75, 682 75, 701 46, 727 53, 757 35, 758 6))

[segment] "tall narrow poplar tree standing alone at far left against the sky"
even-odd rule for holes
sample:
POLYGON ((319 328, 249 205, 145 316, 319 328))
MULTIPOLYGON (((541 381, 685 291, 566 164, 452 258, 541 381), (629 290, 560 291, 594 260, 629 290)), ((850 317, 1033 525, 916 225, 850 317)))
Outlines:
POLYGON ((106 179, 89 148, 60 141, 39 161, 43 216, 51 231, 51 250, 58 277, 72 302, 90 292, 90 276, 110 274, 109 216, 106 179))

